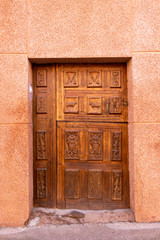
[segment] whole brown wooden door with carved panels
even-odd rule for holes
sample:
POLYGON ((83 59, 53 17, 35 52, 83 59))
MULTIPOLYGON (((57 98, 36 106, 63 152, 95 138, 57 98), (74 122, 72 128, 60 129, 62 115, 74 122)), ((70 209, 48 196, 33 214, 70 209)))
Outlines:
POLYGON ((59 64, 56 77, 54 66, 45 70, 48 85, 35 86, 36 206, 128 208, 125 66, 59 64))

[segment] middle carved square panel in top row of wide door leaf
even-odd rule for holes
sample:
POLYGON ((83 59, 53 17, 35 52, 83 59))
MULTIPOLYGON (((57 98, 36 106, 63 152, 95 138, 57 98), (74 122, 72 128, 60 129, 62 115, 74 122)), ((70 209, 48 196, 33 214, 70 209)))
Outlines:
POLYGON ((87 72, 87 86, 88 87, 102 87, 101 71, 88 71, 87 72))

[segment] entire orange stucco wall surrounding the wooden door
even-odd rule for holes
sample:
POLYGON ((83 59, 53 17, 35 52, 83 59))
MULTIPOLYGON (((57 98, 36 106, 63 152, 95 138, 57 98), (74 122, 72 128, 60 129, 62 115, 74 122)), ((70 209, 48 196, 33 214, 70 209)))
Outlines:
POLYGON ((160 9, 157 0, 0 0, 0 226, 32 209, 30 61, 128 61, 130 199, 160 221, 160 9))

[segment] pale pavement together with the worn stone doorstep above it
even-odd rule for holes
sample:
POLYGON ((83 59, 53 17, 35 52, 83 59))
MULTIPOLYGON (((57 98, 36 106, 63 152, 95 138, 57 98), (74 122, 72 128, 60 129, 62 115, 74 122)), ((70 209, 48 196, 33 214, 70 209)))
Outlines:
POLYGON ((0 240, 160 240, 160 223, 135 223, 130 209, 33 209, 21 228, 0 228, 0 240))

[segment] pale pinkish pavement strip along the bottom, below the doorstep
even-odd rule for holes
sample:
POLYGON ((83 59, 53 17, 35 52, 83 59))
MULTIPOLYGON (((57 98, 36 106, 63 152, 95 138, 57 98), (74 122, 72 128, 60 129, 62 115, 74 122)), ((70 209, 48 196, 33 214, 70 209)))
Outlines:
POLYGON ((160 223, 43 225, 1 228, 0 240, 160 240, 160 223))

